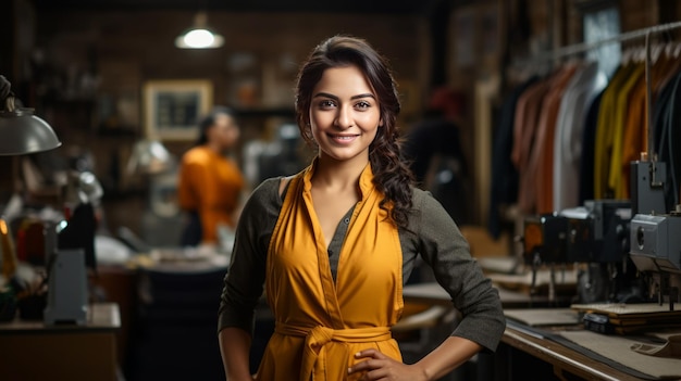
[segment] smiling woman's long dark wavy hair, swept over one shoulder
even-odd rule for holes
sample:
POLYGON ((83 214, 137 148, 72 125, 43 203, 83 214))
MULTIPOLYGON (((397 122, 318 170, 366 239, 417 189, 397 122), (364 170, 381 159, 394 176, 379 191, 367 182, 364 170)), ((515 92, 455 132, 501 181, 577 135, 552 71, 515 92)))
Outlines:
POLYGON ((391 205, 391 218, 398 227, 406 228, 412 208, 413 177, 409 167, 400 161, 401 138, 396 124, 400 110, 399 96, 387 60, 369 42, 351 36, 334 36, 312 50, 298 73, 296 84, 296 118, 300 135, 308 144, 317 145, 309 129, 312 91, 325 69, 346 66, 358 67, 379 99, 383 126, 369 145, 373 182, 385 194, 381 208, 387 209, 391 205))

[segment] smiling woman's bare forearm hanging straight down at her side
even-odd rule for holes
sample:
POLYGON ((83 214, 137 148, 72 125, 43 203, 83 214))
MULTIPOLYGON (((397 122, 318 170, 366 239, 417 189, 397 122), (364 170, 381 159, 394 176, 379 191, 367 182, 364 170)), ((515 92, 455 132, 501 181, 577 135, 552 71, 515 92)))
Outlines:
POLYGON ((250 334, 243 329, 227 327, 220 331, 218 339, 226 379, 228 381, 251 381, 250 334))

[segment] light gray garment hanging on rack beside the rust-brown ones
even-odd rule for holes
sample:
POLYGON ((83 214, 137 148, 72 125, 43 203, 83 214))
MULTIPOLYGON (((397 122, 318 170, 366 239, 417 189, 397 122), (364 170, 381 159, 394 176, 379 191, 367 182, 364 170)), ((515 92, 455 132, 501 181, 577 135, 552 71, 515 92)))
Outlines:
MULTIPOLYGON (((579 170, 583 131, 589 105, 606 86, 597 62, 590 62, 574 74, 560 102, 553 160, 553 209, 579 206, 579 170)), ((549 142, 550 143, 550 142, 549 142)))

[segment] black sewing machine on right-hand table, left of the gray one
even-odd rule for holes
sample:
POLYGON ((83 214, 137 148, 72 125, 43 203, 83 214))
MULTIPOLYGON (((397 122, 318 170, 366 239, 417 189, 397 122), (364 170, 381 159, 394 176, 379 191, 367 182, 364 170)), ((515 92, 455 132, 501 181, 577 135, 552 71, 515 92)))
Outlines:
POLYGON ((523 258, 532 266, 533 285, 542 266, 549 266, 553 280, 556 265, 579 263, 581 303, 619 302, 639 294, 629 258, 630 219, 631 204, 626 200, 589 200, 583 206, 527 217, 523 258))

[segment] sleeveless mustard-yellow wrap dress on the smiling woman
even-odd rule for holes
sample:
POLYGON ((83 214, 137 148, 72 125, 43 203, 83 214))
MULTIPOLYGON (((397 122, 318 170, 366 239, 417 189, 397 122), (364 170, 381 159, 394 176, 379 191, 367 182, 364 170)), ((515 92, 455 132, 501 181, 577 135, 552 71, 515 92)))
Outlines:
POLYGON ((313 170, 290 180, 270 241, 265 291, 276 322, 258 380, 358 380, 362 374, 347 369, 370 347, 401 361, 389 331, 404 306, 401 247, 397 227, 379 208, 383 194, 371 167, 360 177, 335 282, 312 204, 313 170))

